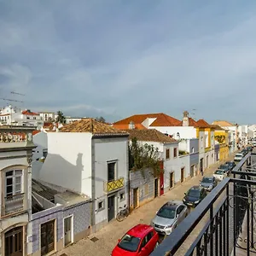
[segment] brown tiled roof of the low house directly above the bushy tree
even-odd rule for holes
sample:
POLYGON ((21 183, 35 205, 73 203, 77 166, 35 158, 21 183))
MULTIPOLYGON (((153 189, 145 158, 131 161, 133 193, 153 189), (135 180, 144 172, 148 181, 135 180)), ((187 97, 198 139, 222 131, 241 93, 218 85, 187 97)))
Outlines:
POLYGON ((165 134, 155 129, 146 129, 146 130, 130 129, 125 131, 130 134, 129 136, 130 139, 136 137, 138 141, 155 142, 155 143, 177 143, 177 140, 175 140, 174 138, 168 137, 165 134))

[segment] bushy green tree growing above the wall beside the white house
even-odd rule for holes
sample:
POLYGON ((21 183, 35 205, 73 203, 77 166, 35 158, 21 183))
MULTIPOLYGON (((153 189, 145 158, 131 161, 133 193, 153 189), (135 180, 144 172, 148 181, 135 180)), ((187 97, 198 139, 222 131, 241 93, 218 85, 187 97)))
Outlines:
POLYGON ((153 145, 137 143, 137 138, 131 139, 129 144, 129 170, 140 170, 144 176, 144 169, 153 171, 154 177, 159 177, 163 170, 160 168, 160 152, 153 145))

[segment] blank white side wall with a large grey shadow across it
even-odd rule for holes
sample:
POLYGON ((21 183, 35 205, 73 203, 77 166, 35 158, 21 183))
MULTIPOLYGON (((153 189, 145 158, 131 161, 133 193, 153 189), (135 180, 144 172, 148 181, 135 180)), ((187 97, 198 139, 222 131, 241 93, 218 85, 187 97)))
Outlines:
POLYGON ((49 132, 38 178, 91 197, 91 133, 49 132))

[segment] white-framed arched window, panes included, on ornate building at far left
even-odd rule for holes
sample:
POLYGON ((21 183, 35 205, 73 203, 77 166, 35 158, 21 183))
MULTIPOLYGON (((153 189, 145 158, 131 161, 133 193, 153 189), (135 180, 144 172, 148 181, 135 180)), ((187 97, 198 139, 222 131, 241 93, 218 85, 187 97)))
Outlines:
POLYGON ((22 191, 22 170, 13 170, 5 173, 6 197, 19 195, 22 191))

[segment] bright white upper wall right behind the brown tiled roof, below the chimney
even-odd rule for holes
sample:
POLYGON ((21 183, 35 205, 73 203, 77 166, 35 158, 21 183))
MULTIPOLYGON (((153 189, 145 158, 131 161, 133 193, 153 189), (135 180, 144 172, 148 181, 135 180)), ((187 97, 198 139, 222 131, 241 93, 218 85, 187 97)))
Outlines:
POLYGON ((162 133, 173 135, 177 139, 177 132, 180 138, 195 138, 196 129, 193 126, 150 126, 149 129, 155 129, 162 133))

